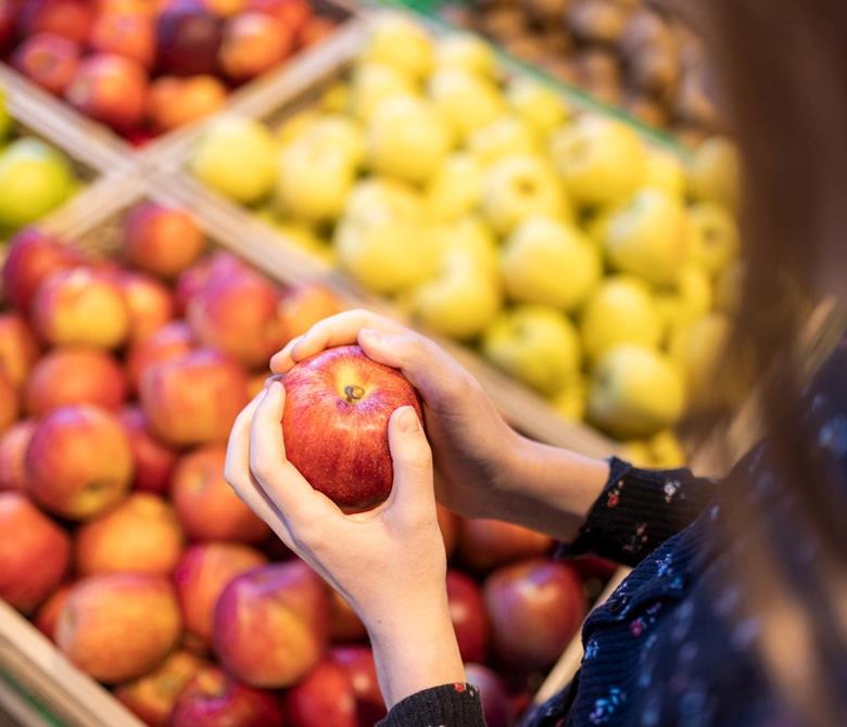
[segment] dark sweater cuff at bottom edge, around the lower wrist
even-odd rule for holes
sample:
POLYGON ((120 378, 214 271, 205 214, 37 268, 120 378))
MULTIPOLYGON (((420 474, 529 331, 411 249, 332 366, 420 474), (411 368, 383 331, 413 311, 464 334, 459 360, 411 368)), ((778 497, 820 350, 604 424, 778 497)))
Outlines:
POLYGON ((457 681, 397 702, 377 727, 485 727, 479 690, 457 681))

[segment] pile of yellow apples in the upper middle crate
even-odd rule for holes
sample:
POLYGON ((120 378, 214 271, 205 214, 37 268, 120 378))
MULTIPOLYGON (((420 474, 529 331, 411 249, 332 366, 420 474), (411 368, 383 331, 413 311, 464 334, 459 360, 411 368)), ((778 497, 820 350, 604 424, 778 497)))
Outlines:
POLYGON ((389 14, 318 104, 214 124, 191 169, 562 416, 679 459, 739 277, 730 142, 684 166, 389 14))

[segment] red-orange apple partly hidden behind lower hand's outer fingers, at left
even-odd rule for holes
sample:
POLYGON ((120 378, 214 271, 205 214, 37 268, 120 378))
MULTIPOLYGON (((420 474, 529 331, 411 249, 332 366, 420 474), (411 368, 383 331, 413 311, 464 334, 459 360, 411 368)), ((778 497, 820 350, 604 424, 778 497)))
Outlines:
POLYGON ((212 445, 179 460, 170 497, 186 534, 193 540, 261 543, 270 528, 224 480, 226 448, 212 445))

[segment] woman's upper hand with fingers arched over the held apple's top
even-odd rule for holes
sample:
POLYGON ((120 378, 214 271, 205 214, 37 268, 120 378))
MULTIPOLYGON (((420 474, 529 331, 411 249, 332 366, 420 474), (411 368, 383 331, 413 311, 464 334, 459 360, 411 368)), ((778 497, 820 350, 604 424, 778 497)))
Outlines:
POLYGON ((327 318, 270 360, 275 373, 334 346, 358 343, 375 361, 400 369, 423 400, 439 501, 468 518, 502 518, 515 481, 521 437, 506 424, 479 382, 429 339, 367 310, 327 318))

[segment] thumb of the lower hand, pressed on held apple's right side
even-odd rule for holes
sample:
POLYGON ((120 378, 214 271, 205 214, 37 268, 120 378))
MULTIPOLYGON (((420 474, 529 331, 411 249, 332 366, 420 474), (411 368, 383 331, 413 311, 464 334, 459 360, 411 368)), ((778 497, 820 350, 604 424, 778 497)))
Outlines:
POLYGON ((389 420, 389 448, 394 467, 392 509, 418 518, 434 510, 432 451, 413 407, 401 407, 389 420))

